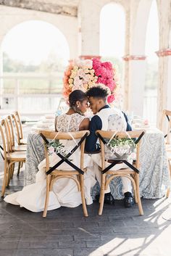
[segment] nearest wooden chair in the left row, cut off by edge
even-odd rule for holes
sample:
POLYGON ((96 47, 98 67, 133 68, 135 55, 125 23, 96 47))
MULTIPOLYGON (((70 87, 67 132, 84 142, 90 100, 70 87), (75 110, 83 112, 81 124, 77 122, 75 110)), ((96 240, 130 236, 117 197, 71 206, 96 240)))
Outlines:
POLYGON ((2 119, 0 122, 0 134, 1 134, 1 157, 4 160, 4 179, 1 189, 1 197, 4 197, 6 186, 9 186, 10 179, 12 178, 15 162, 25 162, 25 152, 12 152, 9 144, 9 132, 7 127, 7 121, 2 119))

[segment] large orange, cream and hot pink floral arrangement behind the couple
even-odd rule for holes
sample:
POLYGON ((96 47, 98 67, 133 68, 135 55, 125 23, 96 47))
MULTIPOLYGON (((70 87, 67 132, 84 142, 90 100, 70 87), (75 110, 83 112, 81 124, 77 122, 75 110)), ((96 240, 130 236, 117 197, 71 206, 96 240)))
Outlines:
POLYGON ((76 60, 65 70, 63 83, 63 96, 66 100, 72 91, 87 91, 98 83, 109 88, 107 101, 112 103, 118 86, 117 71, 111 62, 101 62, 97 58, 76 60))

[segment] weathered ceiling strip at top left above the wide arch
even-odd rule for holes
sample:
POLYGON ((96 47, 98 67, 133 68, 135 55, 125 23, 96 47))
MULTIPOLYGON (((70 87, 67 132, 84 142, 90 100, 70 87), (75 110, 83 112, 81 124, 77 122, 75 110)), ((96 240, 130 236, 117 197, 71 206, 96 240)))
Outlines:
POLYGON ((41 12, 50 12, 58 15, 78 15, 80 0, 0 0, 1 5, 33 9, 41 12))

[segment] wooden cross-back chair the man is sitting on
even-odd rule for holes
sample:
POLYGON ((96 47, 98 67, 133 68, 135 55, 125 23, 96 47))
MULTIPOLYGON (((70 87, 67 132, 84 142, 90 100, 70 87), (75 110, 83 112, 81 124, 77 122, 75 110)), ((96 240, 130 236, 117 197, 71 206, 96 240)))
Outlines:
MULTIPOLYGON (((138 173, 140 168, 139 152, 140 152, 141 137, 143 136, 144 133, 145 132, 143 130, 129 131, 127 133, 117 132, 117 131, 100 131, 100 130, 96 131, 96 134, 99 137, 99 141, 101 145, 101 166, 99 166, 99 169, 101 170, 101 192, 100 192, 100 198, 99 198, 99 203, 100 203, 99 215, 102 214, 103 207, 104 207, 104 190, 107 190, 107 187, 109 186, 110 181, 112 181, 112 179, 115 177, 126 177, 130 179, 133 185, 135 202, 138 203, 138 210, 140 215, 143 215, 143 208, 141 205, 141 198, 139 194, 139 174, 138 173), (120 154, 116 154, 116 153, 114 153, 113 160, 106 159, 105 145, 107 146, 107 142, 112 138, 114 134, 116 134, 117 138, 120 138, 120 139, 128 138, 128 136, 130 139, 138 138, 135 141, 135 145, 136 145, 135 163, 130 164, 127 161, 127 158, 124 158, 124 156, 120 156, 120 154), (116 165, 118 162, 124 162, 126 165, 128 165, 128 168, 120 169, 120 170, 112 170, 112 167, 114 167, 114 165, 116 165)), ((109 150, 110 150, 110 147, 109 147, 109 150)))

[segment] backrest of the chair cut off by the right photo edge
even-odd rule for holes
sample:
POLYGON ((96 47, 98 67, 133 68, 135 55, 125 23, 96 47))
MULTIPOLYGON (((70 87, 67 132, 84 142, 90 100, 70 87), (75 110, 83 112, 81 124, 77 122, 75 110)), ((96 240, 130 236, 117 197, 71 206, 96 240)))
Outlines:
POLYGON ((171 110, 163 110, 162 131, 164 132, 164 138, 166 138, 166 143, 170 144, 171 110))

